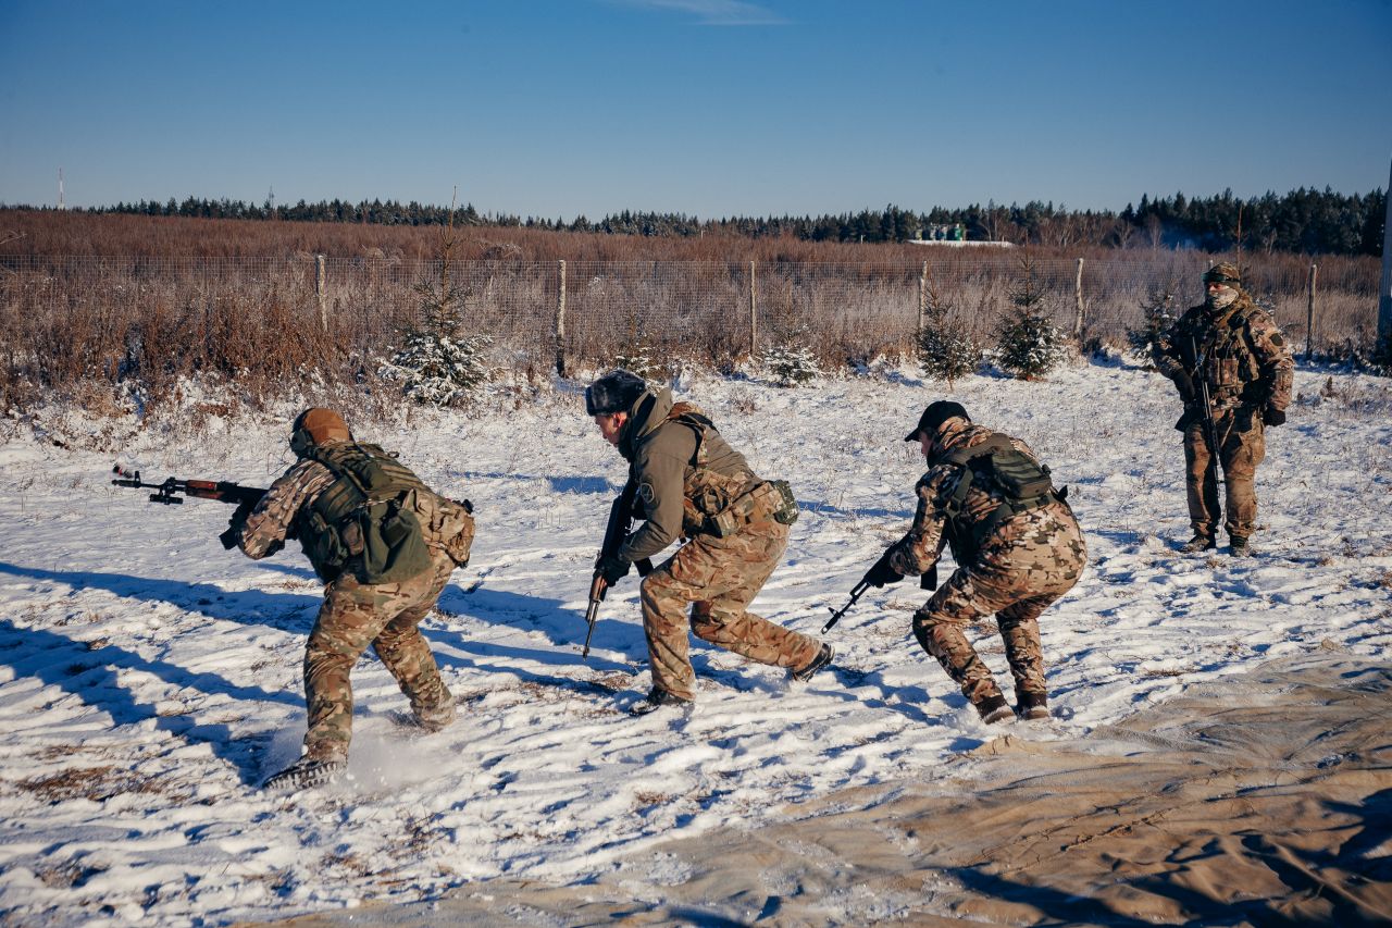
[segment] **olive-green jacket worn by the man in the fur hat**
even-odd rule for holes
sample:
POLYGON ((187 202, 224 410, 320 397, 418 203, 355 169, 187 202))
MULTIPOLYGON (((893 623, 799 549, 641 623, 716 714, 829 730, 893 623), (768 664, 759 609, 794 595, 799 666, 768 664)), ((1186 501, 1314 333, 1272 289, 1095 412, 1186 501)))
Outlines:
POLYGON ((690 403, 672 403, 668 387, 646 392, 633 403, 618 449, 636 490, 632 514, 642 520, 618 550, 631 562, 699 534, 706 517, 760 482, 704 412, 690 403))

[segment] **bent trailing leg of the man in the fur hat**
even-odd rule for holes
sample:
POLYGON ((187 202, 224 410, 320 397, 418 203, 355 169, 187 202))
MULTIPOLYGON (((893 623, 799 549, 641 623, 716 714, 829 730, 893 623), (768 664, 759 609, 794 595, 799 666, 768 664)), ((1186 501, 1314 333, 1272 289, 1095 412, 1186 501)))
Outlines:
POLYGON ((709 599, 692 608, 692 631, 703 641, 759 663, 806 667, 821 651, 820 641, 748 612, 788 545, 786 527, 742 532, 724 541, 725 545, 706 552, 718 580, 706 588, 709 599))

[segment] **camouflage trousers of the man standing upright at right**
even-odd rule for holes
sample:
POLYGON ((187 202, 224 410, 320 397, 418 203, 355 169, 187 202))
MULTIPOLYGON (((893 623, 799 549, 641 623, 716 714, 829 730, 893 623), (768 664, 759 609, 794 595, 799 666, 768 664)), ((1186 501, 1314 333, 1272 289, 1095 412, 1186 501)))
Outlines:
MULTIPOLYGON (((1265 426, 1256 411, 1239 407, 1214 415, 1218 431, 1218 461, 1226 504, 1224 528, 1229 538, 1249 538, 1257 527, 1257 464, 1267 456, 1265 426)), ((1218 468, 1204 438, 1203 419, 1185 429, 1185 490, 1189 523, 1196 535, 1218 532, 1218 468)))

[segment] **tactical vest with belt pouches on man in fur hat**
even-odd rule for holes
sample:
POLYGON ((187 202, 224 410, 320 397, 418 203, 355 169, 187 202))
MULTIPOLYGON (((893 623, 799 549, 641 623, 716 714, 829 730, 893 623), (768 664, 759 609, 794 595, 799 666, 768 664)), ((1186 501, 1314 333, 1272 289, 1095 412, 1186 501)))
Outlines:
POLYGON ((675 403, 667 422, 677 422, 696 433, 696 453, 682 481, 682 534, 727 538, 757 518, 773 518, 784 525, 798 521, 798 502, 786 481, 761 481, 748 467, 721 474, 710 465, 709 439, 715 433, 695 403, 675 403))

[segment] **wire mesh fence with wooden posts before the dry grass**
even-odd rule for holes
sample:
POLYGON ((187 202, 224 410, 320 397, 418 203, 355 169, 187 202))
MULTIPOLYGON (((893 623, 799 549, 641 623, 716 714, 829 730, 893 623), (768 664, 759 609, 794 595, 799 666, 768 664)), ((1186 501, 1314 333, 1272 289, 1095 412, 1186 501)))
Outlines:
MULTIPOLYGON (((832 365, 903 357, 930 300, 988 346, 1026 276, 1055 325, 1121 347, 1165 294, 1175 312, 1199 302, 1210 263, 1161 249, 1023 258, 927 247, 923 261, 887 263, 468 261, 447 270, 464 332, 493 339, 497 366, 536 373, 633 350, 717 366, 791 343, 832 365)), ((1243 263, 1247 288, 1300 350, 1371 347, 1371 265, 1335 265, 1315 280, 1290 255, 1243 263)), ((422 288, 444 270, 369 256, 0 258, 0 387, 191 371, 362 376, 420 325, 422 288)))

